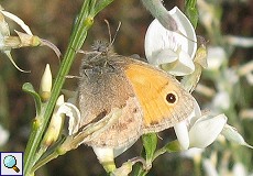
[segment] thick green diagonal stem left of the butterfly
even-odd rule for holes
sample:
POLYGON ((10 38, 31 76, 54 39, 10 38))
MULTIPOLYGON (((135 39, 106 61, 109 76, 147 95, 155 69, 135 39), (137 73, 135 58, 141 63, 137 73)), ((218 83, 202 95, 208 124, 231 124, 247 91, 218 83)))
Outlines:
POLYGON ((52 112, 54 110, 54 106, 56 103, 56 100, 59 96, 63 84, 65 81, 65 76, 68 74, 70 66, 75 59, 76 51, 78 51, 84 44, 85 38, 87 36, 87 31, 94 23, 94 16, 99 12, 99 10, 102 10, 106 6, 112 2, 112 0, 103 1, 102 7, 100 3, 98 7, 99 10, 92 8, 92 4, 95 4, 96 2, 97 1, 95 0, 86 0, 82 3, 80 13, 77 18, 77 22, 75 23, 75 26, 74 26, 74 30, 70 36, 70 42, 68 44, 66 54, 64 55, 63 63, 59 67, 59 72, 56 76, 56 79, 55 79, 55 82, 52 89, 52 97, 48 103, 45 106, 42 113, 40 114, 41 118, 36 119, 32 128, 32 132, 31 132, 29 142, 25 148, 25 154, 24 154, 24 175, 31 174, 30 173, 31 168, 35 162, 34 155, 38 148, 44 131, 51 119, 52 112), (35 125, 35 124, 38 124, 38 125, 35 125))

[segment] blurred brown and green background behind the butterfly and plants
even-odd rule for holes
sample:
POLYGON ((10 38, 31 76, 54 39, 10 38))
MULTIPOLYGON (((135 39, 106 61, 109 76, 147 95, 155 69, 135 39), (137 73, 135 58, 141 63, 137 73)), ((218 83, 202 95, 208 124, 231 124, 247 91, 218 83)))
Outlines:
MULTIPOLYGON (((53 42, 64 54, 68 44, 73 22, 81 0, 1 0, 1 6, 21 18, 34 35, 53 42)), ((184 11, 183 0, 164 0, 169 10, 177 6, 184 11)), ((210 68, 201 77, 200 86, 194 92, 202 109, 226 113, 229 123, 235 127, 248 143, 253 144, 253 1, 223 0, 200 1, 197 34, 204 36, 209 50, 210 68)), ((144 55, 144 36, 152 15, 139 0, 114 0, 95 19, 82 50, 88 51, 95 40, 109 38, 105 19, 110 22, 112 34, 122 22, 114 42, 121 55, 144 55)), ((8 21, 9 22, 9 21, 8 21)), ((14 23, 13 30, 21 31, 14 23)), ((22 91, 24 82, 32 82, 38 90, 41 76, 48 63, 53 77, 59 62, 47 47, 13 50, 16 64, 31 74, 20 73, 4 54, 0 54, 0 151, 24 151, 30 125, 35 117, 31 96, 22 91)), ((76 58, 69 75, 78 75, 81 54, 76 58)), ((76 90, 77 80, 67 79, 65 89, 76 90)), ((168 129, 160 133, 160 146, 175 139, 168 129)), ((139 141, 122 156, 118 166, 131 157, 140 155, 139 141)), ((201 154, 164 154, 153 163, 148 175, 194 176, 210 175, 211 168, 220 175, 243 176, 253 173, 253 152, 244 146, 233 145, 218 139, 201 154)), ((106 175, 91 147, 81 145, 75 151, 59 156, 37 172, 37 176, 85 176, 106 175)))

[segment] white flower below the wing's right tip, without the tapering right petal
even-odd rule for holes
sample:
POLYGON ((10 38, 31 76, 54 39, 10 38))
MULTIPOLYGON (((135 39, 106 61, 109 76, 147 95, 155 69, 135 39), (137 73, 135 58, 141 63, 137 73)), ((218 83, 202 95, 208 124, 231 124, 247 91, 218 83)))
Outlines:
POLYGON ((195 113, 187 120, 174 127, 177 139, 183 150, 189 147, 205 148, 210 145, 221 133, 227 123, 224 114, 201 116, 200 108, 196 102, 195 113))

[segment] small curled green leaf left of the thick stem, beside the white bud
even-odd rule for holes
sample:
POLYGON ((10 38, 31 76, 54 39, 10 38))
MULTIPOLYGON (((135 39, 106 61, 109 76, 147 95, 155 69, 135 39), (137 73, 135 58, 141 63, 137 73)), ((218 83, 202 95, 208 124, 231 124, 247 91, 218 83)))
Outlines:
POLYGON ((33 97, 36 107, 36 114, 40 114, 42 109, 42 100, 40 95, 34 90, 33 85, 31 82, 25 82, 22 86, 22 90, 30 94, 33 97))

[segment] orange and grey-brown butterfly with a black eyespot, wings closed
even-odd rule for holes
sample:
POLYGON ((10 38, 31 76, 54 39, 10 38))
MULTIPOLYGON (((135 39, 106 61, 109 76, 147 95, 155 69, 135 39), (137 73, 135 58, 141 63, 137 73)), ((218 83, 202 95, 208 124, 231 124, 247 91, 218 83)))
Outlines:
POLYGON ((145 62, 118 55, 102 41, 97 41, 92 50, 79 70, 80 127, 103 119, 114 109, 121 113, 86 144, 124 147, 142 134, 168 129, 193 112, 194 97, 173 76, 145 62))

